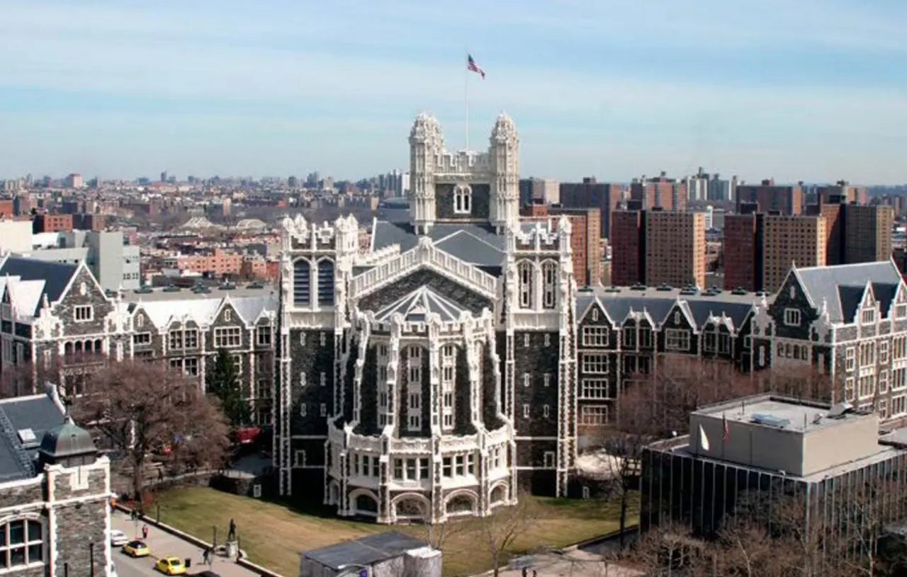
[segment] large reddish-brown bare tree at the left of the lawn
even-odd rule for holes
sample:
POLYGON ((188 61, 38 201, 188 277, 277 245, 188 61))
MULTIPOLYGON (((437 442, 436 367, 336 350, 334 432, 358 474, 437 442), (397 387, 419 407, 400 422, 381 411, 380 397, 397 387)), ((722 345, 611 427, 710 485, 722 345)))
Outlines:
POLYGON ((76 397, 73 415, 99 431, 132 466, 132 492, 141 499, 146 460, 169 448, 171 462, 219 465, 229 429, 216 401, 196 382, 161 363, 110 361, 76 397))

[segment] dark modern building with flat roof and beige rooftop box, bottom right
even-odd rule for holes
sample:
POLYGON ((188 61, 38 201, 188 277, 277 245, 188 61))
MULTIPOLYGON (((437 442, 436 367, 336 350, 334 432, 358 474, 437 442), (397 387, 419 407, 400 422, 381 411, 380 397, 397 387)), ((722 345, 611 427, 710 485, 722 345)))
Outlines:
POLYGON ((859 532, 907 514, 907 431, 880 434, 876 413, 760 395, 699 409, 689 430, 643 451, 643 531, 679 524, 711 536, 759 507, 766 524, 797 524, 842 554, 859 532), (875 525, 854 527, 855 510, 872 510, 875 525))

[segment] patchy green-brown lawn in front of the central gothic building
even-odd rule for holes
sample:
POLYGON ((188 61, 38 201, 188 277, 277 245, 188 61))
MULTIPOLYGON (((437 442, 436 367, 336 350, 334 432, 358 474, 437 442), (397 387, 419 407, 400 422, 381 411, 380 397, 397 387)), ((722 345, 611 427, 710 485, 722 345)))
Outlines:
MULTIPOLYGON (((521 531, 512 553, 576 543, 618 528, 617 502, 541 498, 535 501, 537 511, 532 524, 521 531)), ((339 519, 330 510, 299 511, 289 505, 230 495, 207 487, 156 494, 154 505, 161 507, 162 522, 207 541, 211 540, 212 527, 216 524, 218 540, 222 543, 230 517, 235 518, 241 546, 249 558, 286 577, 298 574, 301 551, 389 528, 339 519)), ((150 507, 151 514, 155 512, 154 505, 150 507)), ((629 524, 636 523, 636 516, 634 504, 629 524)), ((445 577, 490 569, 488 547, 476 530, 482 521, 470 519, 460 523, 443 543, 445 577)), ((425 537, 425 528, 419 525, 396 528, 425 537)))

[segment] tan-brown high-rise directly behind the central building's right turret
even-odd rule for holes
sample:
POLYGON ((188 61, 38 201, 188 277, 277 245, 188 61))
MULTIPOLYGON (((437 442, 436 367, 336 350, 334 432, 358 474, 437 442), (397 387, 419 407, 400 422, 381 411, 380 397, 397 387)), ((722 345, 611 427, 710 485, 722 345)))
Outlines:
POLYGON ((579 286, 600 284, 601 279, 601 216, 598 208, 550 207, 541 200, 520 210, 523 221, 549 221, 557 232, 561 216, 571 224, 573 278, 579 286))

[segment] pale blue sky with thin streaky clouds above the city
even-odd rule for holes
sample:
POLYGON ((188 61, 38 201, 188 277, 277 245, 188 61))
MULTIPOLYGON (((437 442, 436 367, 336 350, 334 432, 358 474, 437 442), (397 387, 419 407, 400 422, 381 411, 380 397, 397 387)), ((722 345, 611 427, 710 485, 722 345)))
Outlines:
POLYGON ((405 168, 419 111, 524 176, 907 181, 902 0, 0 0, 0 178, 405 168))

